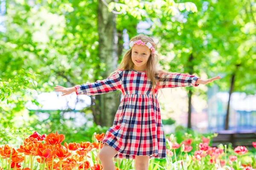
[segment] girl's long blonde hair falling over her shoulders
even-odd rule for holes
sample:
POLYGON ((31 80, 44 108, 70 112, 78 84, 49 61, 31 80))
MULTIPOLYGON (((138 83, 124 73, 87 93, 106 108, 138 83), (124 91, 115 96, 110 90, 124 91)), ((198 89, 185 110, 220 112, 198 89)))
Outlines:
MULTIPOLYGON (((142 40, 143 42, 147 43, 147 42, 150 42, 151 45, 156 48, 156 43, 154 42, 154 40, 151 38, 151 37, 148 37, 147 35, 144 35, 144 34, 138 34, 137 36, 135 37, 132 37, 130 42, 131 41, 137 41, 137 40, 142 40)), ((129 44, 130 44, 129 42, 129 44)), ((116 68, 115 71, 113 71, 111 75, 113 75, 114 73, 116 73, 116 71, 118 71, 119 69, 122 69, 122 70, 129 70, 129 69, 132 69, 134 67, 134 63, 131 59, 131 51, 132 51, 132 48, 128 49, 125 54, 124 54, 124 57, 122 58, 122 61, 120 63, 120 65, 116 68)), ((164 73, 164 74, 169 74, 171 72, 168 72, 168 71, 164 71, 164 70, 159 70, 157 69, 156 65, 157 65, 157 62, 158 62, 158 55, 157 54, 150 54, 149 58, 148 58, 148 62, 146 64, 146 76, 150 79, 151 83, 152 83, 152 89, 153 89, 153 94, 155 94, 155 86, 157 86, 157 82, 159 81, 163 81, 164 79, 166 79, 167 77, 165 76, 165 78, 160 78, 160 79, 156 79, 156 76, 159 75, 160 73, 164 73)))

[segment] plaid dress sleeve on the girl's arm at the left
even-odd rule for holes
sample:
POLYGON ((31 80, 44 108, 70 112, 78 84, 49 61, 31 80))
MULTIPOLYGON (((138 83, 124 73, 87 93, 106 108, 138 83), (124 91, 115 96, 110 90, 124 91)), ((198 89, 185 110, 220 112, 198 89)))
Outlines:
POLYGON ((108 77, 107 79, 97 80, 93 83, 76 85, 76 95, 85 94, 90 96, 121 90, 122 74, 123 71, 119 69, 115 74, 113 74, 111 77, 108 77))

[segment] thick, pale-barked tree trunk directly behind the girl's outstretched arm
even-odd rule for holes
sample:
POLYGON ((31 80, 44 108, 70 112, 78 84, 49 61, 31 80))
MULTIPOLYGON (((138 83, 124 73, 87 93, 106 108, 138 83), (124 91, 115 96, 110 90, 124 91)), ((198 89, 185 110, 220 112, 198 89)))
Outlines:
MULTIPOLYGON (((105 0, 111 3, 113 0, 105 0)), ((116 35, 116 16, 108 11, 108 7, 99 0, 98 6, 98 32, 99 32, 99 58, 101 63, 105 63, 106 71, 102 77, 107 78, 109 74, 117 67, 117 35, 116 35)), ((100 68, 102 70, 102 68, 100 68)), ((115 92, 96 95, 96 101, 99 101, 99 107, 95 108, 96 113, 100 113, 99 122, 101 126, 112 126, 114 116, 120 104, 119 97, 115 92)))

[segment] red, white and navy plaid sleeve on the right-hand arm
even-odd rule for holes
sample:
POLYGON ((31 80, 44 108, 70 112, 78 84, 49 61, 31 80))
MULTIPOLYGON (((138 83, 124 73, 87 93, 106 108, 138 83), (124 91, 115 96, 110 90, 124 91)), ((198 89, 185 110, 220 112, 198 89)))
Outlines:
POLYGON ((160 88, 176 88, 185 86, 197 87, 199 84, 196 84, 196 82, 198 79, 201 79, 201 77, 183 73, 160 73, 156 78, 166 78, 157 82, 157 85, 160 88))

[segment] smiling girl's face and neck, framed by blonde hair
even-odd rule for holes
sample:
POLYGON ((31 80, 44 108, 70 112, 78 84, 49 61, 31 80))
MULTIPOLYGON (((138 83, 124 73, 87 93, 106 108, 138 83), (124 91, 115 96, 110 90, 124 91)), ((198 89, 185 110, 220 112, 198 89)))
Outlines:
POLYGON ((134 44, 131 51, 131 59, 134 63, 134 70, 145 71, 150 54, 151 50, 148 49, 146 45, 134 44))

